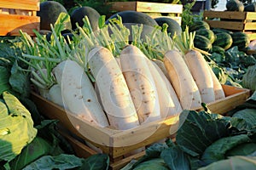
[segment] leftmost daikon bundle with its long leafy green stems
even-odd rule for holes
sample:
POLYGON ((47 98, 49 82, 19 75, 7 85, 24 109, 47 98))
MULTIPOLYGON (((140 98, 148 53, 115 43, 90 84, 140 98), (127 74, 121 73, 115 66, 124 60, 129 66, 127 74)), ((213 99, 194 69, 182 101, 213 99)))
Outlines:
MULTIPOLYGON (((60 17, 60 20, 63 21, 67 16, 60 17)), ((62 27, 60 23, 56 23, 55 27, 51 26, 52 37, 49 42, 37 31, 35 31, 36 42, 32 42, 31 37, 20 32, 23 41, 26 42, 27 53, 23 54, 25 59, 20 59, 36 70, 32 71, 32 75, 36 77, 36 80, 32 79, 32 82, 38 88, 48 91, 49 100, 64 106, 74 115, 80 116, 92 124, 107 127, 108 119, 96 99, 90 79, 84 72, 85 59, 78 56, 78 50, 75 50, 78 48, 77 44, 68 39, 69 42, 67 42, 61 36, 62 27), (37 66, 34 66, 34 63, 37 66), (46 74, 42 73, 43 69, 46 74), (37 72, 40 73, 39 76, 37 72), (51 79, 45 75, 50 75, 51 79), (46 82, 49 83, 46 84, 46 82)))

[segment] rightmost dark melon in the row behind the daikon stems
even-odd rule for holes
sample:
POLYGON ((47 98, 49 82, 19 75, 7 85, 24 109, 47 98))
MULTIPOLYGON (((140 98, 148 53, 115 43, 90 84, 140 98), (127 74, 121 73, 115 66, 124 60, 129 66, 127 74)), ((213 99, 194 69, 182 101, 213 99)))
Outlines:
POLYGON ((163 24, 167 24, 167 32, 171 33, 171 37, 174 35, 180 35, 182 33, 182 28, 179 26, 176 20, 173 20, 169 17, 159 17, 154 19, 159 26, 163 26, 163 24))

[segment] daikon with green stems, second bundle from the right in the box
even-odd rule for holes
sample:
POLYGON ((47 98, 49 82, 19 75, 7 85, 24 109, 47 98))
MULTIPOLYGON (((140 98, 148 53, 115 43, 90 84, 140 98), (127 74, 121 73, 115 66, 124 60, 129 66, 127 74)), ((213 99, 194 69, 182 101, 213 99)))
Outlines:
POLYGON ((183 59, 183 54, 177 50, 172 38, 167 34, 167 27, 163 26, 162 31, 154 31, 148 38, 146 37, 148 47, 145 50, 154 58, 163 60, 171 86, 175 90, 171 93, 172 100, 175 101, 177 98, 183 110, 199 108, 201 107, 199 89, 183 59), (150 41, 152 38, 154 41, 150 41))

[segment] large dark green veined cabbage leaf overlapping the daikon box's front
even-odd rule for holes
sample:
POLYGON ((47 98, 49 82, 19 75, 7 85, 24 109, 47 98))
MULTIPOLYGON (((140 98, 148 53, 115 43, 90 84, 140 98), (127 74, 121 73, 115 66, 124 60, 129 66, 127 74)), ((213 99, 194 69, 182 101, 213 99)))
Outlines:
POLYGON ((201 156, 214 141, 227 136, 227 122, 214 117, 205 111, 189 111, 186 121, 177 131, 178 146, 190 156, 201 156))

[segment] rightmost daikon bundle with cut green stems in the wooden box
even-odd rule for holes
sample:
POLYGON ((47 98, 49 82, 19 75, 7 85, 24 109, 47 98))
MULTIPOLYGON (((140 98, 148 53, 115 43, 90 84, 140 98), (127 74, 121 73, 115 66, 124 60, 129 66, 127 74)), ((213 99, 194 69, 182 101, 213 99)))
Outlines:
POLYGON ((194 37, 195 32, 189 33, 189 29, 187 28, 181 36, 176 38, 176 42, 183 52, 184 60, 189 66, 189 71, 200 90, 201 102, 207 104, 215 101, 215 99, 223 98, 224 92, 218 81, 214 80, 213 83, 212 77, 214 77, 214 74, 211 73, 206 59, 204 59, 204 56, 201 54, 205 52, 194 47, 194 37), (218 94, 218 96, 215 97, 215 94, 218 94))

